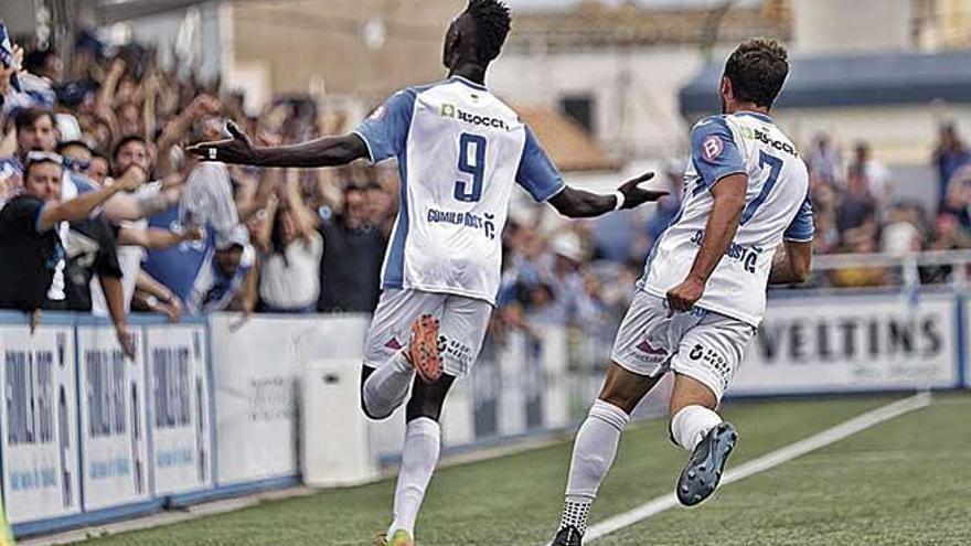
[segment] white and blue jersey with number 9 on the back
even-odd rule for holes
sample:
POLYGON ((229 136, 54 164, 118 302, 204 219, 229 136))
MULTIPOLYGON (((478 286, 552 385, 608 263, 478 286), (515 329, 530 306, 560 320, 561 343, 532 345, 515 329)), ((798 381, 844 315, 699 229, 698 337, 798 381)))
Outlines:
POLYGON ((397 158, 401 211, 382 283, 495 302, 513 183, 536 201, 563 179, 509 106, 461 77, 393 95, 354 131, 397 158))

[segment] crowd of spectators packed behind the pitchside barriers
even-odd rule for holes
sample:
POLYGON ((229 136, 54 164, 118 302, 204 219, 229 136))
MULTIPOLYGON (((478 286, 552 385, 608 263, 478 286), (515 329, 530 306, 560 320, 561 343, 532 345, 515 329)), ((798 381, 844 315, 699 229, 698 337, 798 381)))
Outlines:
MULTIPOLYGON (((306 96, 248 115, 218 82, 89 34, 66 65, 50 47, 12 56, 23 71, 14 88, 13 68, 0 66, 0 278, 19 280, 3 282, 0 308, 110 315, 119 338, 129 310, 174 321, 374 309, 398 205, 393 167, 254 169, 182 151, 225 138, 231 120, 269 146, 346 130, 341 116, 306 96)), ((933 153, 936 207, 896 199, 892 171, 865 142, 846 160, 841 149, 829 136, 803 147, 818 254, 971 248, 971 153, 953 126, 941 128, 933 153)), ((493 334, 616 326, 644 255, 681 205, 683 161, 661 170, 671 194, 612 220, 564 223, 548 207, 514 207, 493 334)), ((942 281, 949 270, 921 274, 942 281)), ((814 282, 874 286, 888 275, 847 269, 814 282)))

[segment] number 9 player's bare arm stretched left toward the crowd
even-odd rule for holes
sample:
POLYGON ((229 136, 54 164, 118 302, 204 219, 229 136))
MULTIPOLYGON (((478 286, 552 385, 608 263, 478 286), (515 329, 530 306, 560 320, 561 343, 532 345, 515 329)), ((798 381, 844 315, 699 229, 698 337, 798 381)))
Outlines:
POLYGON ((186 151, 204 161, 256 167, 334 167, 367 157, 367 146, 356 135, 321 137, 291 146, 257 147, 232 121, 226 124, 231 139, 201 142, 186 151))

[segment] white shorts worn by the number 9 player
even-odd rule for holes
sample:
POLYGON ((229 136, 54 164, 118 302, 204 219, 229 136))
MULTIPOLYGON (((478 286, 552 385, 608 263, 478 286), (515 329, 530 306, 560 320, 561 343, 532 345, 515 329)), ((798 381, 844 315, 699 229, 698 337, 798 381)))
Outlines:
POLYGON ((387 364, 408 344, 412 323, 423 314, 431 314, 441 323, 442 371, 455 377, 468 374, 482 349, 492 306, 463 296, 410 289, 390 289, 381 293, 364 342, 364 365, 381 367, 387 364))

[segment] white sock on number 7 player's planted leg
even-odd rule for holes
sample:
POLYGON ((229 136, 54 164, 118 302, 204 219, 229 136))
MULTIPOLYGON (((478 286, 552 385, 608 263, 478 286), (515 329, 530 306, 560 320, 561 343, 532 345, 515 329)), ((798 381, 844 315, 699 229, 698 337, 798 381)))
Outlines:
POLYGON ((590 504, 613 464, 620 433, 629 420, 619 407, 600 399, 594 402, 574 441, 559 528, 573 525, 581 534, 586 532, 590 504))

